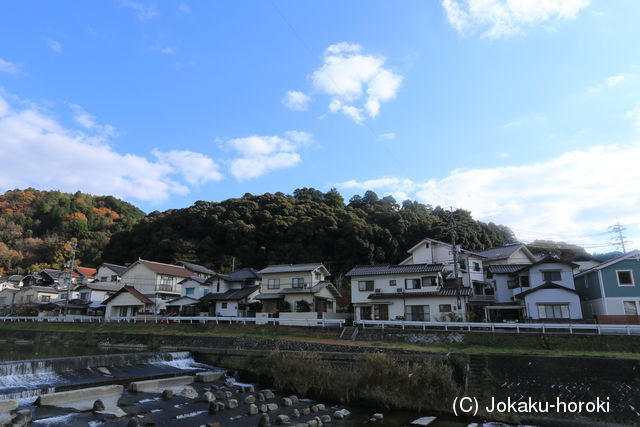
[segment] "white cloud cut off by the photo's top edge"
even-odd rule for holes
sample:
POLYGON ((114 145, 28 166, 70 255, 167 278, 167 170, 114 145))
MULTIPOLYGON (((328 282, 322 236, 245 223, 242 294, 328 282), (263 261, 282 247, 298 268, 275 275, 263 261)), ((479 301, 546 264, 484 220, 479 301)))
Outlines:
POLYGON ((442 0, 447 20, 460 34, 499 38, 526 28, 574 19, 588 0, 442 0))

